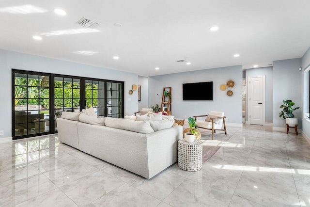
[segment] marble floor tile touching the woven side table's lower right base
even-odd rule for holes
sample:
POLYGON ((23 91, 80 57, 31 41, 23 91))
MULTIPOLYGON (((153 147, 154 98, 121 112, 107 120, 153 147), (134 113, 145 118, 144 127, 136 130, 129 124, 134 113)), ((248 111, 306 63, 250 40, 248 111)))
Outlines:
POLYGON ((202 170, 193 172, 187 179, 233 194, 240 176, 239 173, 218 169, 216 164, 205 162, 202 170))

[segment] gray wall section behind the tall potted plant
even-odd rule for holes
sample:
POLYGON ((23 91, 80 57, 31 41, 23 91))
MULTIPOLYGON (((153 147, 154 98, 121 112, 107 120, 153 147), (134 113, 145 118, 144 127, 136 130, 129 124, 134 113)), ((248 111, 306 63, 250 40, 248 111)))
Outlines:
MULTIPOLYGON (((301 58, 273 62, 273 127, 286 127, 285 120, 279 117, 283 100, 290 99, 301 107, 301 58)), ((302 109, 302 108, 301 108, 302 109)), ((298 128, 301 128, 302 110, 294 111, 298 118, 298 128)))

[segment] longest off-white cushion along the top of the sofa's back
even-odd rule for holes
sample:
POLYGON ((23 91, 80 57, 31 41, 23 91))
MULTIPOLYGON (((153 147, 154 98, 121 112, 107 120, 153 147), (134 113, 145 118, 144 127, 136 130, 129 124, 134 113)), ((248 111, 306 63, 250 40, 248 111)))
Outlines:
POLYGON ((149 134, 154 132, 153 128, 150 126, 149 121, 137 122, 130 119, 106 117, 105 124, 107 127, 119 128, 127 131, 134 131, 141 134, 149 134))

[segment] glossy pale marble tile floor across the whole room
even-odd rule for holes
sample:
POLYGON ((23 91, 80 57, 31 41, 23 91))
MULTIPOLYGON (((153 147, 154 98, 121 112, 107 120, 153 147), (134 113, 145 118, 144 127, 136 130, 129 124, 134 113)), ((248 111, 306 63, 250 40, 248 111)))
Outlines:
POLYGON ((228 128, 199 172, 172 165, 152 179, 59 143, 0 144, 0 206, 310 206, 310 144, 271 128, 228 128))

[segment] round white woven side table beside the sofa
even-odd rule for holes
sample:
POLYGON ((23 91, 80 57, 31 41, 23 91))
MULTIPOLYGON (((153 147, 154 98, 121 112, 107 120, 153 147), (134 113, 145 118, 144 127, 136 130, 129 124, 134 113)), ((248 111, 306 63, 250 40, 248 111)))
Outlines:
POLYGON ((178 166, 186 171, 199 171, 202 169, 202 141, 195 140, 188 143, 185 139, 179 140, 178 166))

